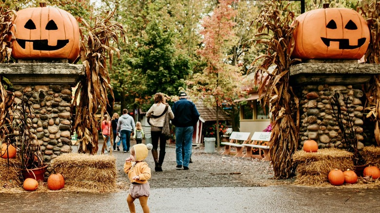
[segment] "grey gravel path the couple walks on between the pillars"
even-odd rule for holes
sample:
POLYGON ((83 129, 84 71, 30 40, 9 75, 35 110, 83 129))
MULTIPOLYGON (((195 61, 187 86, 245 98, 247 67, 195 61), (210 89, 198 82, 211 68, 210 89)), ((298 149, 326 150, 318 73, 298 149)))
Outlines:
MULTIPOLYGON (((132 142, 131 145, 135 144, 132 142)), ((212 154, 205 153, 204 147, 192 148, 192 161, 189 170, 176 170, 175 144, 167 144, 163 172, 154 171, 150 153, 147 162, 152 169, 149 180, 151 188, 191 188, 191 187, 247 187, 287 184, 292 179, 272 179, 273 169, 269 161, 221 155, 223 150, 212 154)), ((128 190, 127 175, 123 171, 124 160, 130 153, 113 152, 118 171, 117 186, 128 190)))

